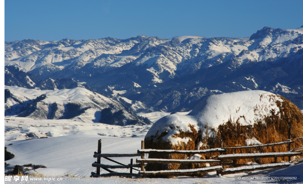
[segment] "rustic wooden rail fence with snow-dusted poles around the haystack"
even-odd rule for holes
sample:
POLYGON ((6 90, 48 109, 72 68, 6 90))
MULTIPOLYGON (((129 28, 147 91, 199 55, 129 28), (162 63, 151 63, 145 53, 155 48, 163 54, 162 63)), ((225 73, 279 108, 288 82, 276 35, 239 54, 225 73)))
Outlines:
POLYGON ((145 177, 145 175, 174 175, 174 176, 183 176, 188 174, 199 174, 199 173, 207 173, 216 171, 217 175, 225 175, 225 174, 235 174, 240 172, 249 172, 255 170, 264 170, 264 169, 271 169, 271 168, 278 168, 278 167, 287 167, 290 163, 296 163, 303 159, 297 159, 291 161, 291 156, 298 156, 302 153, 300 151, 303 150, 303 147, 298 149, 290 149, 290 144, 294 143, 294 141, 303 140, 303 137, 295 138, 295 139, 288 139, 284 142, 277 142, 271 144, 262 144, 262 145, 253 145, 253 146, 241 146, 241 147, 228 147, 223 148, 221 144, 221 148, 214 148, 214 149, 204 149, 204 150, 159 150, 159 149, 144 149, 144 141, 141 142, 141 149, 138 149, 137 153, 134 154, 101 154, 101 139, 98 141, 98 152, 95 152, 94 157, 97 158, 97 162, 93 163, 93 167, 97 167, 97 172, 92 172, 92 177, 104 177, 104 176, 126 176, 126 177, 145 177), (226 152, 227 149, 249 149, 249 148, 261 148, 261 147, 268 147, 268 146, 278 146, 288 144, 288 152, 270 152, 270 153, 241 153, 241 154, 228 154, 222 155, 226 152), (218 159, 204 159, 204 160, 187 160, 187 159, 145 159, 145 153, 175 153, 175 154, 205 154, 205 153, 215 153, 219 152, 221 155, 218 155, 218 159), (128 165, 121 164, 116 162, 108 157, 134 157, 134 156, 141 156, 141 159, 136 159, 137 164, 131 163, 128 165), (251 158, 268 158, 268 157, 285 157, 288 156, 289 162, 282 162, 282 163, 272 163, 272 164, 261 164, 261 165, 252 165, 252 166, 242 166, 236 168, 226 168, 224 169, 222 165, 224 164, 231 164, 234 160, 237 159, 251 159, 251 158), (118 163, 120 165, 117 166, 110 166, 104 165, 100 163, 100 158, 108 159, 112 162, 118 163), (179 170, 161 170, 161 171, 145 171, 145 163, 190 163, 190 164, 198 164, 198 163, 218 163, 220 166, 212 166, 212 167, 205 167, 205 168, 197 168, 197 169, 179 169, 179 170), (138 174, 133 174, 132 169, 133 167, 140 167, 141 171, 138 169, 138 174), (110 173, 100 174, 100 168, 105 169, 110 173), (108 168, 130 168, 130 173, 120 173, 114 172, 109 170, 108 168))

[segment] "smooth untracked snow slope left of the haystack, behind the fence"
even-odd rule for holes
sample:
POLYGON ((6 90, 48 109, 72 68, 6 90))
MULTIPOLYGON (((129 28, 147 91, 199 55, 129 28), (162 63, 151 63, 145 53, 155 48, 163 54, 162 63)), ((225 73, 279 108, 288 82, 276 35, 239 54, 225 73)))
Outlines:
MULTIPOLYGON (((18 141, 13 142, 11 146, 7 146, 8 151, 15 154, 15 158, 6 161, 6 163, 14 166, 30 163, 45 165, 47 168, 36 169, 36 172, 45 175, 90 176, 91 172, 96 172, 92 163, 97 161, 93 155, 98 148, 98 139, 102 139, 102 153, 136 153, 141 148, 141 140, 144 140, 144 136, 121 138, 85 135, 79 132, 76 135, 18 141)), ((5 142, 5 145, 8 145, 8 143, 12 142, 5 142)), ((129 164, 131 158, 113 159, 123 164, 129 164)), ((135 161, 136 157, 133 159, 135 161)), ((117 165, 103 158, 101 162, 102 164, 117 165)), ((112 170, 127 172, 127 169, 112 170)), ((107 171, 102 169, 101 173, 107 173, 107 171)))

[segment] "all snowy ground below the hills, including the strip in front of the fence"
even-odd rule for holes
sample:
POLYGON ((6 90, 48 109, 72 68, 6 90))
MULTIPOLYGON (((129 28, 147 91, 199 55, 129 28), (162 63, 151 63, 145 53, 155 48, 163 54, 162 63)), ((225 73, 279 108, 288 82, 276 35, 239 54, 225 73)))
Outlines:
MULTIPOLYGON (((182 113, 182 115, 187 113, 182 113)), ((138 115, 148 117, 151 121, 155 122, 169 114, 165 112, 151 112, 146 114, 139 113, 138 115)), ((96 172, 96 168, 92 167, 92 163, 97 161, 96 158, 93 158, 93 154, 97 151, 98 139, 102 139, 102 153, 136 153, 137 149, 141 148, 141 140, 144 140, 150 127, 151 125, 128 125, 121 127, 102 123, 75 122, 72 120, 35 120, 20 117, 5 117, 5 146, 9 152, 15 155, 15 158, 6 161, 6 163, 11 166, 17 164, 44 165, 47 168, 39 168, 32 172, 41 173, 45 176, 75 176, 73 178, 63 177, 63 181, 58 182, 35 181, 23 183, 266 183, 259 181, 235 181, 235 175, 217 176, 216 172, 210 172, 203 178, 182 176, 172 179, 89 178, 91 172, 96 172), (27 131, 25 130, 34 132, 39 136, 43 136, 45 133, 51 136, 47 139, 28 139, 26 135, 27 131), (11 143, 12 145, 8 146, 11 143)), ((133 157, 134 162, 136 158, 139 157, 133 157)), ((121 157, 113 159, 123 164, 129 164, 131 158, 121 157)), ((116 165, 103 158, 101 159, 101 163, 116 165)), ((112 170, 129 172, 129 169, 112 170)), ((133 170, 133 173, 137 172, 133 170)), ((101 173, 107 172, 101 169, 101 173)), ((249 173, 250 176, 271 176, 273 174, 301 175, 301 182, 299 183, 303 183, 303 163, 284 169, 268 169, 249 173)), ((244 176, 247 173, 237 175, 244 176)))

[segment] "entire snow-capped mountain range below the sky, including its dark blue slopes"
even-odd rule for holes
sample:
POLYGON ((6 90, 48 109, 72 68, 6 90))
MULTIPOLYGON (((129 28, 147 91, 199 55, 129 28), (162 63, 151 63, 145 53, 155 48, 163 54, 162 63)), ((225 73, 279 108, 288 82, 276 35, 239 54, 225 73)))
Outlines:
POLYGON ((302 46, 303 27, 264 27, 247 38, 27 39, 5 42, 5 65, 42 80, 72 78, 100 94, 163 111, 188 111, 214 93, 257 89, 303 108, 302 46))

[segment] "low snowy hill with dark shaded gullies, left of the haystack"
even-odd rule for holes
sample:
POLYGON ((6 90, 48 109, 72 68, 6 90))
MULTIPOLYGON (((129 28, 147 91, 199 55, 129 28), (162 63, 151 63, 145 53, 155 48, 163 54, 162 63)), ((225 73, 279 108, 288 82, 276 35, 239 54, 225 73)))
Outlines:
POLYGON ((38 90, 5 86, 5 89, 9 90, 9 95, 5 99, 5 116, 71 119, 93 123, 99 122, 102 109, 111 108, 113 112, 123 110, 124 124, 127 124, 127 119, 138 120, 139 124, 145 124, 132 111, 125 109, 120 102, 84 88, 38 90))

